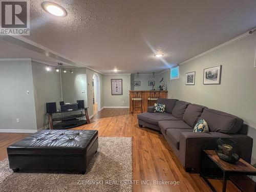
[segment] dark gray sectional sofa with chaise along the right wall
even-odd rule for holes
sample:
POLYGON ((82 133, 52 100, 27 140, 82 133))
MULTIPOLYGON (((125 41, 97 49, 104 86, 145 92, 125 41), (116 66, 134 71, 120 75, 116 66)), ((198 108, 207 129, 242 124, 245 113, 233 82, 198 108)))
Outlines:
POLYGON ((157 103, 165 104, 165 113, 154 113, 154 106, 149 106, 146 113, 138 115, 139 126, 162 133, 186 171, 199 173, 202 149, 214 150, 219 138, 236 141, 241 157, 250 163, 252 138, 241 118, 177 99, 158 99, 157 103), (208 123, 207 133, 193 132, 201 118, 208 123))

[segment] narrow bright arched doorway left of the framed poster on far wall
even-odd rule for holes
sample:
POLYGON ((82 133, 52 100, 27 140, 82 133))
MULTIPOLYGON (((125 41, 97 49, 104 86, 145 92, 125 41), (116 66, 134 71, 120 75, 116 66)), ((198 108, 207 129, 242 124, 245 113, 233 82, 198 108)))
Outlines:
POLYGON ((92 92, 93 92, 93 115, 95 115, 101 109, 100 102, 100 80, 97 73, 93 74, 92 79, 92 92))

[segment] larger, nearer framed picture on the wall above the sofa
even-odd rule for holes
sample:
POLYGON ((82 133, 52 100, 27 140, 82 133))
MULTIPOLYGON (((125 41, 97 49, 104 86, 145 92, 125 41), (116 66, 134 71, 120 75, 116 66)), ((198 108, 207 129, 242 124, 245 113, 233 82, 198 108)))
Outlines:
POLYGON ((220 65, 204 69, 203 84, 220 84, 221 68, 222 66, 220 65))

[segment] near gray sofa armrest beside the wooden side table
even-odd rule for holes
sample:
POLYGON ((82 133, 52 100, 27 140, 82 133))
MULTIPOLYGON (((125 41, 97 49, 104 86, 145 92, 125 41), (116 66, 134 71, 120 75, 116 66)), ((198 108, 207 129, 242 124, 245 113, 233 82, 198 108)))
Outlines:
POLYGON ((215 150, 219 138, 230 138, 237 142, 241 151, 241 158, 250 163, 252 152, 252 138, 247 135, 227 135, 219 132, 180 134, 179 157, 185 168, 200 170, 201 151, 204 149, 215 150))

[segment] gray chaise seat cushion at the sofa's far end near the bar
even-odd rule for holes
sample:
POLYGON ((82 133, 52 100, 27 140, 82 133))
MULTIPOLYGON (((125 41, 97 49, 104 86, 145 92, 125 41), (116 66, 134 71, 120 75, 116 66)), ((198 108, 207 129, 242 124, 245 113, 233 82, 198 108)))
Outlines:
POLYGON ((138 114, 138 119, 147 123, 158 125, 158 121, 160 120, 171 120, 176 118, 169 113, 141 113, 138 114))

